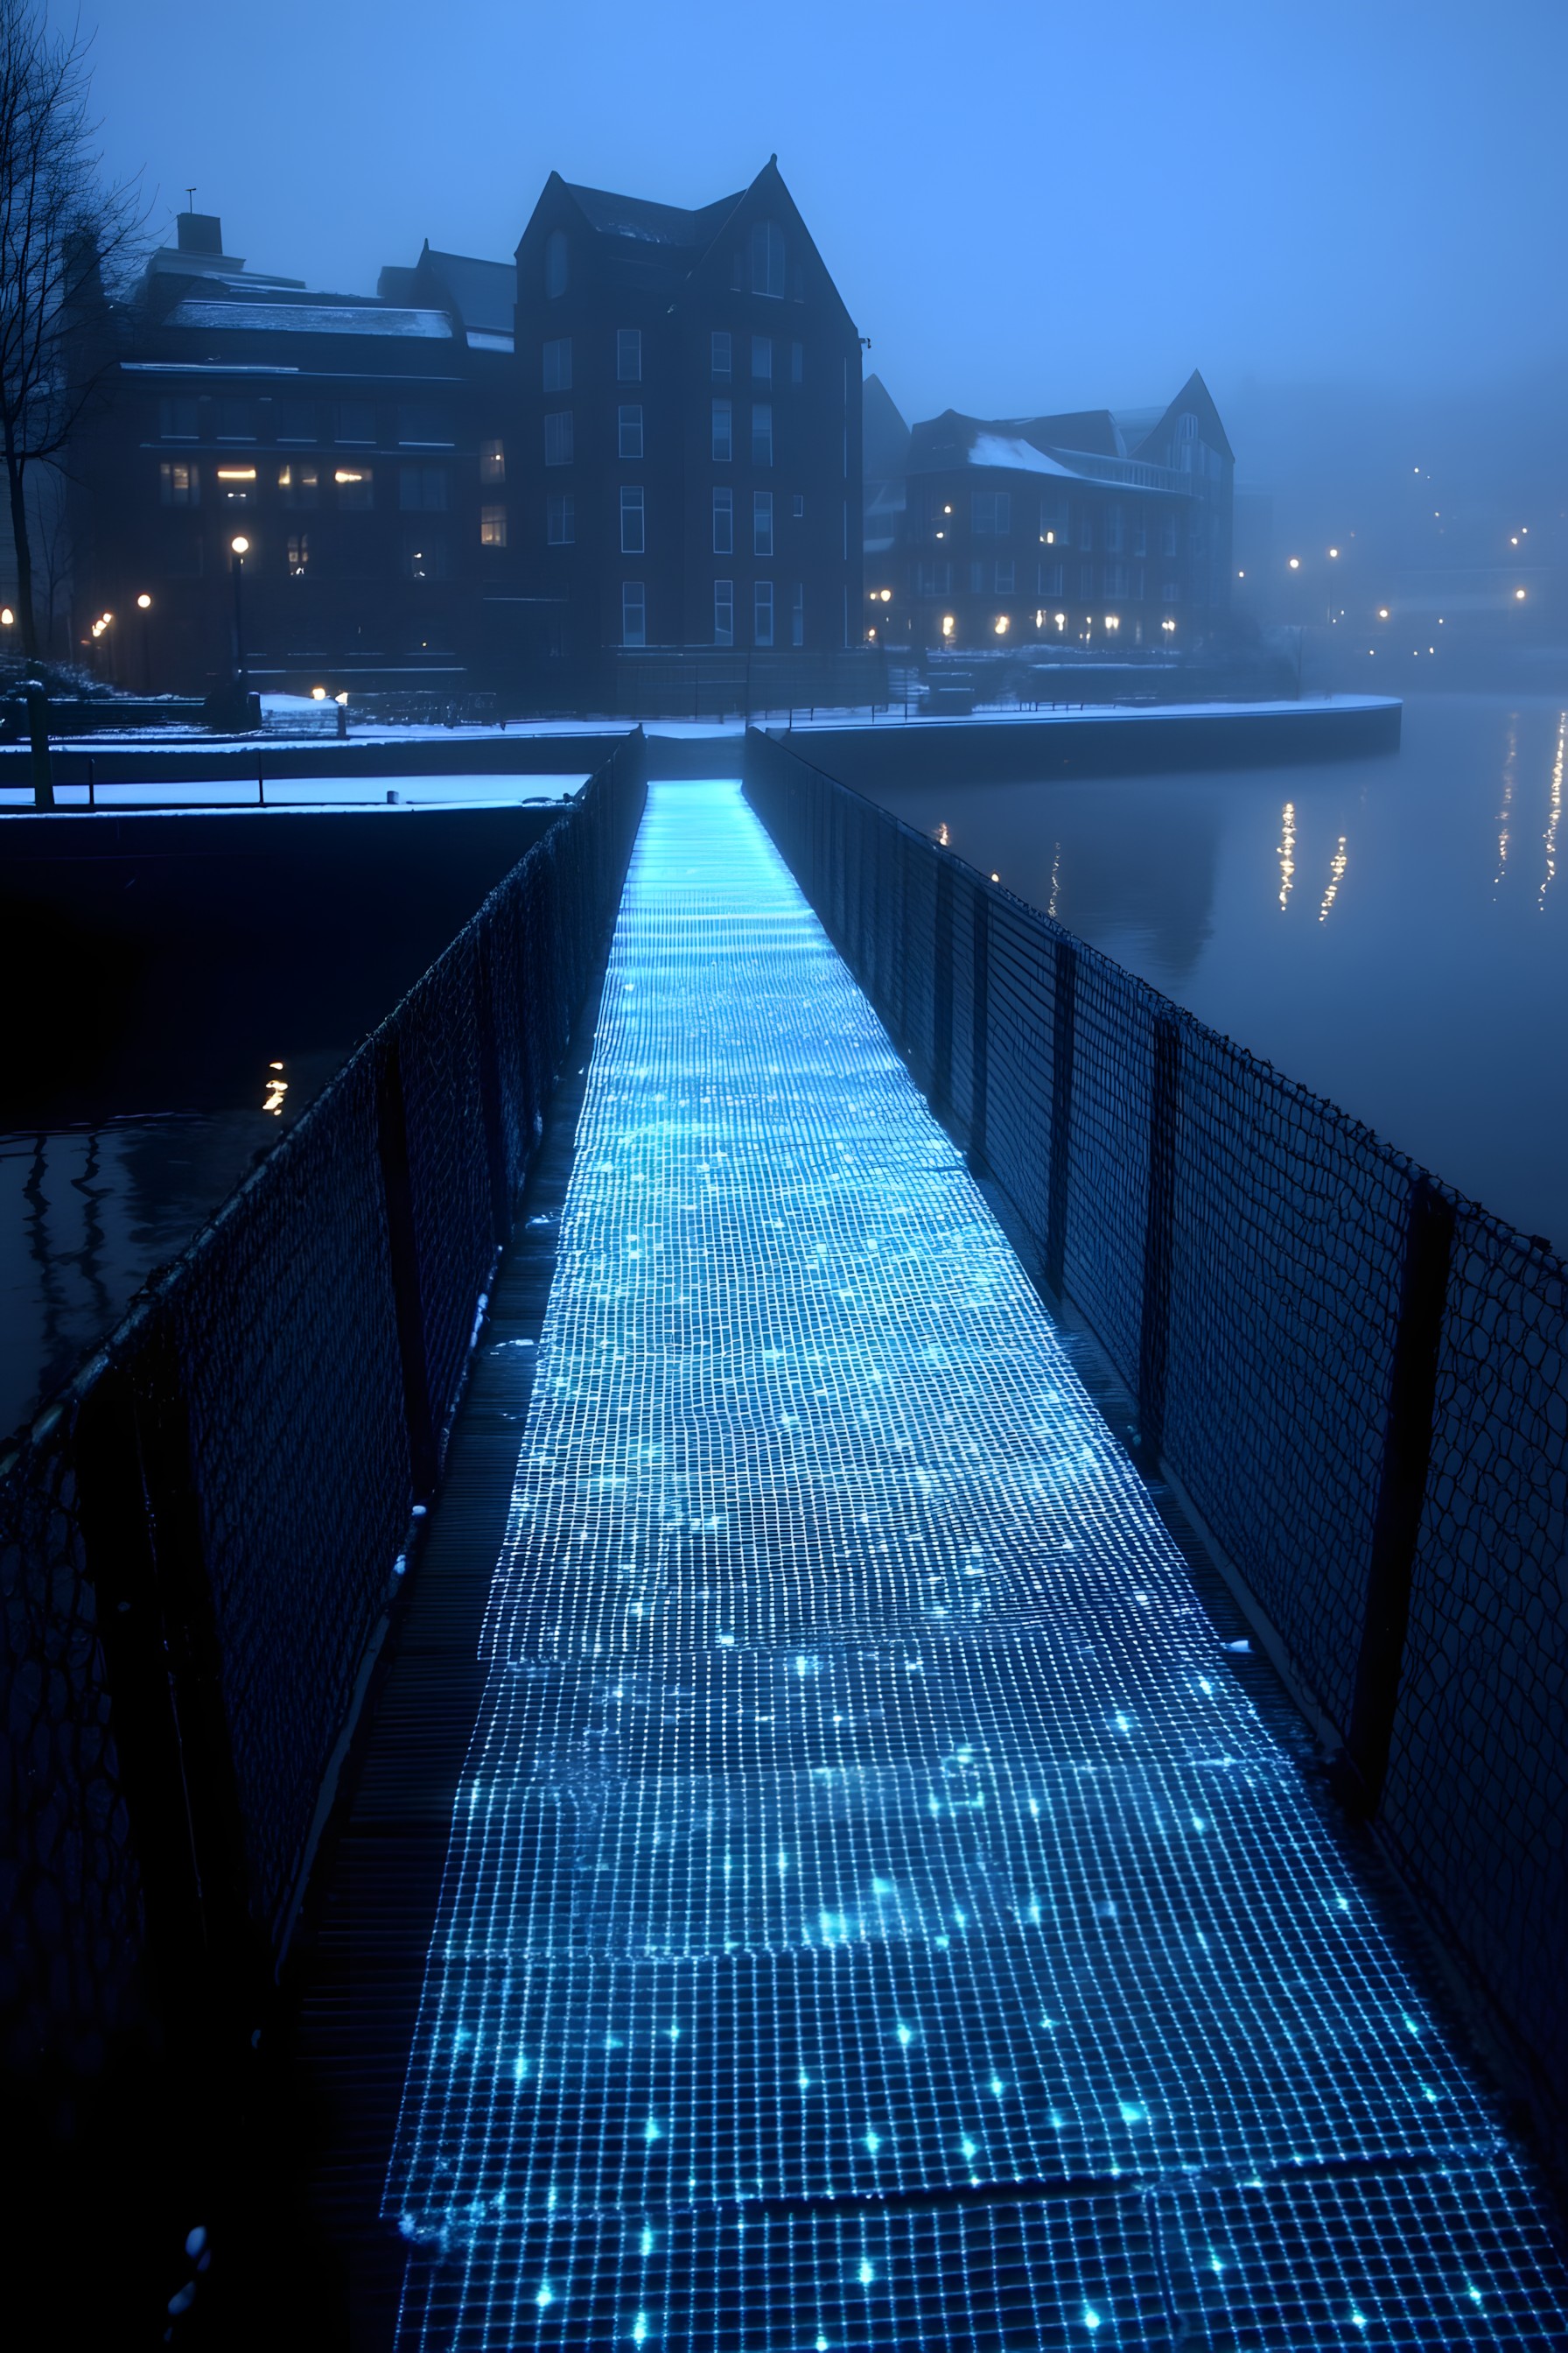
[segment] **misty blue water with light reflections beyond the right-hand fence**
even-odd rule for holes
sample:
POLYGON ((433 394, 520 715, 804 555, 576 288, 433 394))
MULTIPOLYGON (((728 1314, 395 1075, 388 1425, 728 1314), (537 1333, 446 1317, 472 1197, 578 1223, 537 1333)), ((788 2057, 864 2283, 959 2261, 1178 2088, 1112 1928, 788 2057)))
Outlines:
POLYGON ((1568 1249, 1568 696, 1399 753, 884 800, 1201 1021, 1568 1249))

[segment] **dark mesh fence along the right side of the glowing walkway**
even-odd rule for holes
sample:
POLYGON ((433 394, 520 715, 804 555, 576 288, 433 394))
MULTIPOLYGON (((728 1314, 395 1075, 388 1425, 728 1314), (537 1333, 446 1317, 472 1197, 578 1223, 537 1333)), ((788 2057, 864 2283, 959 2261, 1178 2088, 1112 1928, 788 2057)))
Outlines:
POLYGON ((1568 2160, 1568 1266, 788 741, 745 791, 1568 2160))

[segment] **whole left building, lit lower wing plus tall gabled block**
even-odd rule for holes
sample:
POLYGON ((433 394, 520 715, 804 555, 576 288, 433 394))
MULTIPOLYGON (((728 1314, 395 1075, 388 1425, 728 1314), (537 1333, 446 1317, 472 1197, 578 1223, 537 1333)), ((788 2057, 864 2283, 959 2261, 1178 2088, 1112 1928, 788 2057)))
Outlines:
POLYGON ((860 642, 860 346, 776 160, 701 212, 552 174, 515 264, 374 296, 188 212, 82 334, 73 638, 122 685, 592 706, 623 652, 860 642))

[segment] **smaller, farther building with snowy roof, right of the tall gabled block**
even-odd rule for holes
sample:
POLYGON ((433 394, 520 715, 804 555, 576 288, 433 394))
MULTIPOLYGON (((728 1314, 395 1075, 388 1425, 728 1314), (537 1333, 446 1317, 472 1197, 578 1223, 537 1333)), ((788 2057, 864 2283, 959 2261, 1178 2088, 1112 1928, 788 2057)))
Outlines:
POLYGON ((1199 374, 1164 409, 907 431, 872 376, 865 612, 898 647, 1168 645, 1229 609, 1234 456, 1199 374), (903 464, 900 464, 903 456, 903 464))

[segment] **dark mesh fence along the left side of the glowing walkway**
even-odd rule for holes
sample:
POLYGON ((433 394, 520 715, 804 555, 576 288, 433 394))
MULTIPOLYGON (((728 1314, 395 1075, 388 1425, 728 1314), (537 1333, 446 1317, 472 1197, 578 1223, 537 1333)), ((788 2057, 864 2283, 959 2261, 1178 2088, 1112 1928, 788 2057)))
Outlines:
POLYGON ((625 739, 0 1459, 0 2066, 254 1984, 614 922, 625 739))

